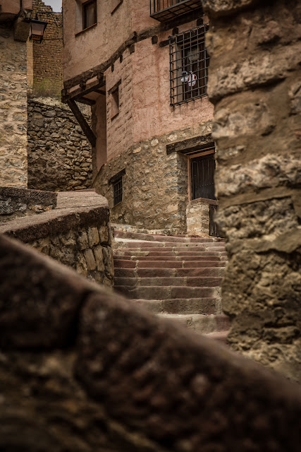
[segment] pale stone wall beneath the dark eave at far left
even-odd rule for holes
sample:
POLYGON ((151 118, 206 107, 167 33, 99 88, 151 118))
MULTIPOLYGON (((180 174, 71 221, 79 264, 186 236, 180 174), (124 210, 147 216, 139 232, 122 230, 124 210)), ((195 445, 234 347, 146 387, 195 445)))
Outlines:
POLYGON ((26 42, 0 28, 0 186, 27 186, 26 42))

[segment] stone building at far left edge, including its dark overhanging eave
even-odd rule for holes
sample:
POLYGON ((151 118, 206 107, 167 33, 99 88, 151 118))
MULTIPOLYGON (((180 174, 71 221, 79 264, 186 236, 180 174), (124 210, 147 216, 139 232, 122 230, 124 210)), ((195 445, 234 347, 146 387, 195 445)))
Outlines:
POLYGON ((26 41, 31 1, 1 1, 0 185, 27 186, 26 41))

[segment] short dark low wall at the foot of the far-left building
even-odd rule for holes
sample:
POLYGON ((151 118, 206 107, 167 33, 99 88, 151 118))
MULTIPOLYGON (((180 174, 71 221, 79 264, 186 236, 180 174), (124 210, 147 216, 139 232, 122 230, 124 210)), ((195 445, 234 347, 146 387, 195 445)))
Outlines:
POLYGON ((0 225, 14 218, 56 208, 56 193, 0 187, 0 225))

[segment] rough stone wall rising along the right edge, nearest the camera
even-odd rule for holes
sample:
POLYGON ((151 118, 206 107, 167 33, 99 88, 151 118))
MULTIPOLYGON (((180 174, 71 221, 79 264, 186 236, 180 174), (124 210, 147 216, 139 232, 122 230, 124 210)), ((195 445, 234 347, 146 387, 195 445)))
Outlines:
POLYGON ((301 4, 203 4, 211 20, 218 223, 228 242, 228 340, 301 381, 301 4))

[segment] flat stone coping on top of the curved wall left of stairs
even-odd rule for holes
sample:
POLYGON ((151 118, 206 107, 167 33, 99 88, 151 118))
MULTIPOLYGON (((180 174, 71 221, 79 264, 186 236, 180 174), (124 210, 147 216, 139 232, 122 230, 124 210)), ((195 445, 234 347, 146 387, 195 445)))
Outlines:
POLYGON ((0 233, 31 242, 50 234, 109 222, 109 206, 104 196, 93 191, 60 192, 56 209, 30 217, 12 220, 0 226, 0 233))

